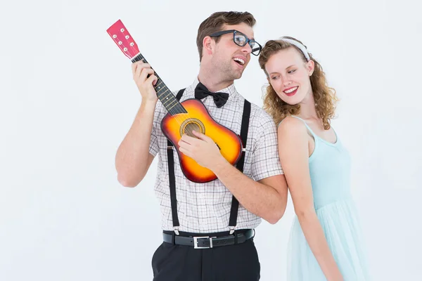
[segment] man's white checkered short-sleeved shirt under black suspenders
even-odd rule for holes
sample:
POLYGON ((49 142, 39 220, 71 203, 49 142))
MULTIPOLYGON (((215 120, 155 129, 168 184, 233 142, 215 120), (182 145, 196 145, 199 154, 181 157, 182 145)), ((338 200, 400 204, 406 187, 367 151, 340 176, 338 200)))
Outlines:
MULTIPOLYGON (((181 97, 181 102, 188 98, 195 98, 195 88, 198 83, 199 81, 196 78, 193 84, 186 88, 181 97)), ((203 98, 202 102, 215 121, 240 135, 245 98, 236 91, 234 84, 219 92, 229 93, 229 99, 222 107, 215 106, 212 96, 203 98)), ((154 190, 160 202, 162 230, 173 230, 167 166, 167 138, 160 127, 161 120, 166 114, 167 110, 158 100, 155 107, 149 152, 151 155, 158 155, 158 171, 154 190)), ((177 215, 180 223, 179 231, 190 233, 228 231, 232 195, 222 182, 218 179, 209 183, 189 181, 181 171, 176 152, 174 153, 174 174, 177 215)), ((250 109, 243 174, 255 181, 283 174, 279 162, 274 121, 267 112, 254 104, 251 105, 250 109)), ((259 216, 252 214, 239 204, 236 229, 256 228, 260 222, 259 216)))

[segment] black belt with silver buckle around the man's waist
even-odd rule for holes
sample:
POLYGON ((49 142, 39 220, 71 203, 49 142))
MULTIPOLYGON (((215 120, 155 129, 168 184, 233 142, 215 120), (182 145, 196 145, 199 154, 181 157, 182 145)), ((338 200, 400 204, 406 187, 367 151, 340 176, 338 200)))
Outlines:
POLYGON ((214 247, 228 246, 234 244, 240 244, 249 240, 255 236, 255 230, 250 229, 244 233, 237 233, 236 235, 228 235, 222 237, 209 237, 209 236, 180 236, 174 234, 162 233, 162 239, 164 242, 193 246, 195 249, 208 249, 214 247), (174 243, 173 243, 174 237, 174 243), (237 240, 237 241, 236 241, 237 240))

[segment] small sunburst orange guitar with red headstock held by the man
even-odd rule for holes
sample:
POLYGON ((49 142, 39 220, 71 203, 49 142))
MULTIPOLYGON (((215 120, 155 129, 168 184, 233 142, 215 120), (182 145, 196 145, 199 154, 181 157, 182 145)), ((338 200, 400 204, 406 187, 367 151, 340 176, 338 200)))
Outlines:
MULTIPOLYGON (((111 25, 107 32, 124 55, 132 60, 132 63, 139 60, 147 63, 121 20, 117 20, 111 25)), ((218 124, 200 100, 190 98, 179 103, 179 100, 167 88, 158 74, 154 74, 158 77, 154 89, 158 99, 167 110, 167 115, 161 122, 161 130, 177 150, 181 171, 189 181, 195 183, 207 183, 215 180, 217 176, 210 169, 200 166, 191 157, 179 151, 177 143, 179 143, 181 136, 186 133, 188 136, 195 138, 192 130, 209 136, 215 141, 223 157, 233 165, 238 162, 242 154, 243 145, 241 138, 234 131, 218 124)))

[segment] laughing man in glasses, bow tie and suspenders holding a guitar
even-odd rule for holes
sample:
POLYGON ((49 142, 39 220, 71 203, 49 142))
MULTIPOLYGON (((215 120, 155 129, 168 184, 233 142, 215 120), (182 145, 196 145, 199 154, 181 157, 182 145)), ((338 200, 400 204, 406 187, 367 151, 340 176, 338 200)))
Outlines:
POLYGON ((158 78, 150 65, 141 61, 132 65, 142 102, 117 150, 116 168, 118 181, 134 187, 159 155, 155 193, 161 204, 164 242, 153 255, 155 281, 260 279, 254 228, 261 218, 276 223, 283 216, 287 185, 274 122, 234 86, 250 54, 258 55, 262 48, 253 39, 253 25, 255 18, 247 12, 213 13, 204 20, 197 37, 198 77, 177 94, 181 101, 201 99, 219 124, 243 134, 244 158, 236 167, 208 136, 193 132, 196 137, 181 137, 180 152, 210 169, 215 181, 194 183, 184 176, 172 143, 161 131, 167 111, 157 102, 153 85, 158 78))

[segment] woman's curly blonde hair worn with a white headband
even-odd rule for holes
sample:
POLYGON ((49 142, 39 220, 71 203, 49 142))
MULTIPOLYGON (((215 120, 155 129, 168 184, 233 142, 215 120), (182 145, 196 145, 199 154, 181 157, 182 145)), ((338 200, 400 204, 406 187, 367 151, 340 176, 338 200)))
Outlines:
MULTIPOLYGON (((298 39, 293 37, 283 38, 300 42, 298 39)), ((302 44, 302 42, 300 42, 300 44, 302 44)), ((303 61, 307 63, 305 55, 302 53, 302 51, 300 51, 300 48, 286 41, 283 41, 282 39, 267 41, 264 48, 262 48, 259 58, 260 67, 262 70, 264 70, 267 77, 269 76, 265 71, 265 64, 268 62, 271 55, 274 55, 274 53, 290 47, 295 48, 302 55, 303 61)), ((310 53, 309 58, 313 60, 315 64, 314 72, 312 73, 310 79, 312 92, 314 93, 316 113, 318 114, 318 117, 322 119, 324 129, 328 130, 331 127, 330 120, 335 117, 335 104, 337 103, 338 98, 335 96, 335 89, 328 87, 325 73, 322 70, 321 65, 314 58, 312 58, 312 54, 310 53)), ((285 103, 283 100, 281 100, 281 98, 279 98, 279 96, 277 96, 277 93, 274 91, 271 84, 267 86, 267 92, 264 94, 263 107, 264 110, 266 110, 269 115, 273 117, 276 124, 279 124, 279 122, 281 122, 281 120, 286 118, 288 115, 298 115, 300 113, 300 105, 289 105, 288 103, 285 103)))

